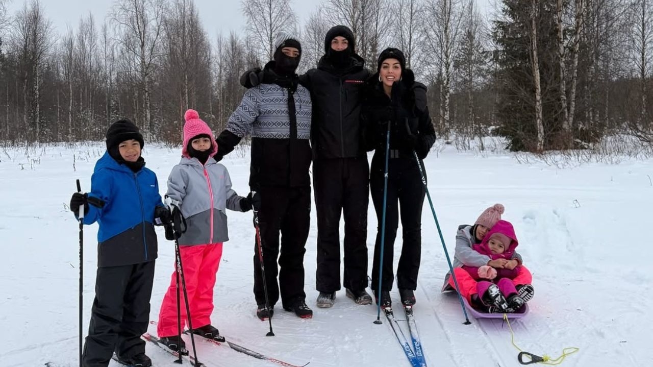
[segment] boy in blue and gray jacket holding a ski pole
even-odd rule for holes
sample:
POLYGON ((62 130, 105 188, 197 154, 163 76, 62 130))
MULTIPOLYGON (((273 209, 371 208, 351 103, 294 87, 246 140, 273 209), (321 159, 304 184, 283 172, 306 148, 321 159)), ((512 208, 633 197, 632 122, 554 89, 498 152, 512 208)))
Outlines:
POLYGON ((71 210, 84 224, 97 221, 97 276, 84 367, 106 367, 114 353, 134 366, 151 366, 140 336, 148 330, 157 258, 154 223, 170 222, 157 176, 140 156, 143 136, 129 120, 106 131, 106 153, 95 164, 90 193, 74 193, 71 210))

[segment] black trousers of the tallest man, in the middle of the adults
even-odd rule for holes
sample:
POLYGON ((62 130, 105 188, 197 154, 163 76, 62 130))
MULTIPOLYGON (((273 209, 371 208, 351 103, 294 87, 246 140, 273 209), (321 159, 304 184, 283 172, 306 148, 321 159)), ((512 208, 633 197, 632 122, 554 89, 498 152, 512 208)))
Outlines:
POLYGON ((340 213, 345 218, 345 288, 368 285, 367 212, 370 167, 367 157, 313 161, 317 209, 316 289, 340 290, 340 213))

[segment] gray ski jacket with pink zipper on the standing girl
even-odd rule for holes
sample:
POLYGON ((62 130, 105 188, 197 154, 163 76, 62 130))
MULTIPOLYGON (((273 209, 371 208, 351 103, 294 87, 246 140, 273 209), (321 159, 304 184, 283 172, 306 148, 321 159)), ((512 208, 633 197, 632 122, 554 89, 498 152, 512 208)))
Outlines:
POLYGON ((228 241, 226 210, 242 212, 243 197, 231 189, 227 167, 212 157, 206 165, 197 158, 182 157, 170 172, 166 195, 180 202, 186 219, 187 230, 179 238, 180 246, 228 241))

